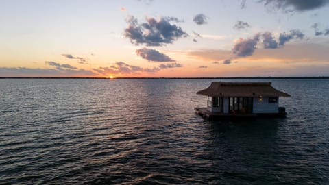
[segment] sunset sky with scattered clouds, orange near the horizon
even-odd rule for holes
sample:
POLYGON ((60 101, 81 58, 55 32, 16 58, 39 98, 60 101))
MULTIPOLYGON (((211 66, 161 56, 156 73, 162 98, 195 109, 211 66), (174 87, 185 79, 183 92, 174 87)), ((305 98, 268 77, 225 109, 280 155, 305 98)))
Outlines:
POLYGON ((329 76, 328 0, 0 2, 0 77, 329 76))

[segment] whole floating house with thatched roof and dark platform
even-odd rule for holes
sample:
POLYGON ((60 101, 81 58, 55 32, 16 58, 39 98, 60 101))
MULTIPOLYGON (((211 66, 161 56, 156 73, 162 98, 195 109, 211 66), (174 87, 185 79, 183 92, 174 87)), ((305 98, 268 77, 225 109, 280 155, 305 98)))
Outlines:
POLYGON ((208 97, 206 108, 195 108, 206 119, 284 117, 287 113, 279 107, 279 97, 290 97, 271 82, 212 82, 197 94, 208 97))

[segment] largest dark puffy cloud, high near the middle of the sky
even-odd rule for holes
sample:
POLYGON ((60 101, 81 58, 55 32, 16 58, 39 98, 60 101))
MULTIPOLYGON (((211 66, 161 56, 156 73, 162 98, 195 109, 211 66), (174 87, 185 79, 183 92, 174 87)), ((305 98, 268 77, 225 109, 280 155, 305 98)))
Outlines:
POLYGON ((162 46, 172 44, 178 38, 188 36, 182 28, 171 24, 173 18, 146 18, 146 22, 138 24, 134 16, 128 18, 128 27, 125 29, 125 37, 130 38, 134 45, 145 44, 147 46, 162 46))

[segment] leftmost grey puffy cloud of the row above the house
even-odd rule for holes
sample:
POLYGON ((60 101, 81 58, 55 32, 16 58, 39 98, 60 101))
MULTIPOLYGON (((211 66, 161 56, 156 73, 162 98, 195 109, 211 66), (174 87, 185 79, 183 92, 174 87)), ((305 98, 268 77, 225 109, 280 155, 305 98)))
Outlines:
POLYGON ((239 57, 252 56, 256 49, 257 42, 259 41, 259 37, 260 35, 256 34, 253 38, 240 38, 240 40, 234 45, 232 52, 239 57))

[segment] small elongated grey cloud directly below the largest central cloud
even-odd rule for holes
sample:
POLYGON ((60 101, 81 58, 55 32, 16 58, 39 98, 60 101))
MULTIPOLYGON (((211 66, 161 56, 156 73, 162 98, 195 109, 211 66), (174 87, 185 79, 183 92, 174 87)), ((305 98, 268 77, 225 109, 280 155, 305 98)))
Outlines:
POLYGON ((156 51, 154 49, 137 49, 136 54, 138 56, 141 56, 141 58, 144 58, 148 61, 152 62, 173 62, 175 60, 171 59, 169 56, 164 55, 163 53, 160 53, 159 51, 156 51))

